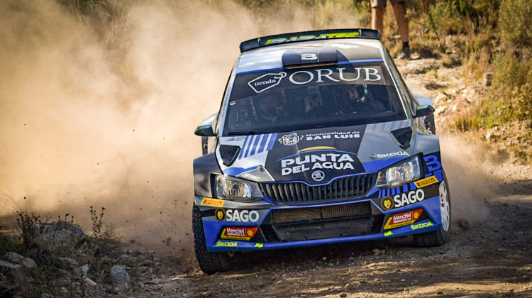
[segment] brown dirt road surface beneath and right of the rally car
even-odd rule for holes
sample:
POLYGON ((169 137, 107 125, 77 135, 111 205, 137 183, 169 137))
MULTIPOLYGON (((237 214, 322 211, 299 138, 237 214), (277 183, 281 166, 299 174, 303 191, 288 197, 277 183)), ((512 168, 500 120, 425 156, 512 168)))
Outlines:
POLYGON ((187 269, 165 260, 139 276, 133 292, 138 297, 532 297, 531 167, 482 165, 484 177, 480 167, 465 169, 467 162, 455 167, 458 163, 451 160, 448 169, 458 216, 450 243, 442 247, 416 248, 407 237, 241 253, 233 271, 215 275, 204 275, 194 263, 187 269))

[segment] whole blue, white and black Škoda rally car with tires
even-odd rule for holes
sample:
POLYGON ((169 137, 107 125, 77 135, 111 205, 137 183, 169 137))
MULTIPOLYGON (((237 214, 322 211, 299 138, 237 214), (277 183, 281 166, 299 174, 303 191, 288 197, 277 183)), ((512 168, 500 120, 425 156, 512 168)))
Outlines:
POLYGON ((434 109, 411 94, 378 31, 272 35, 240 52, 220 111, 195 131, 201 270, 229 270, 244 250, 448 241, 434 109))

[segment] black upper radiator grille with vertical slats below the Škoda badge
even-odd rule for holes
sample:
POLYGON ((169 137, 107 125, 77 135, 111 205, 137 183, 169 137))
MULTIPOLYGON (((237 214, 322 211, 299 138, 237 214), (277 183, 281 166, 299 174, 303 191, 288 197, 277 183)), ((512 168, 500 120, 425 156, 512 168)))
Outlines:
POLYGON ((275 204, 308 204, 362 197, 375 185, 376 177, 375 173, 342 177, 320 186, 303 182, 262 182, 260 187, 275 204))

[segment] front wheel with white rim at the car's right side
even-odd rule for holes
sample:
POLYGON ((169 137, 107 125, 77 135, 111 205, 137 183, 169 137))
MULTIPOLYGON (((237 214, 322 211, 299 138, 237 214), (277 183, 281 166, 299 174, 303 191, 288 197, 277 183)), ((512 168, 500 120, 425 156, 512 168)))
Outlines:
POLYGON ((447 177, 443 172, 443 181, 440 183, 440 214, 442 216, 442 228, 438 231, 414 234, 414 243, 419 247, 428 248, 444 245, 450 238, 451 208, 450 194, 447 185, 447 177), (444 197, 444 198, 442 198, 444 197), (448 216, 446 216, 448 214, 448 216))

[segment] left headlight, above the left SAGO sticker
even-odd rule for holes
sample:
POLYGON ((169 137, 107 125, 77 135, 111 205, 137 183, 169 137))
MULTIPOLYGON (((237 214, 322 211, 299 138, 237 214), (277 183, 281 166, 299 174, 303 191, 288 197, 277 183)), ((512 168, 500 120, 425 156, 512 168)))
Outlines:
POLYGON ((216 196, 218 199, 243 202, 264 197, 257 183, 222 175, 216 176, 216 196))

